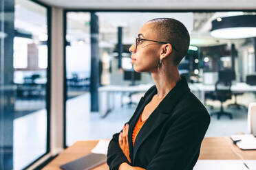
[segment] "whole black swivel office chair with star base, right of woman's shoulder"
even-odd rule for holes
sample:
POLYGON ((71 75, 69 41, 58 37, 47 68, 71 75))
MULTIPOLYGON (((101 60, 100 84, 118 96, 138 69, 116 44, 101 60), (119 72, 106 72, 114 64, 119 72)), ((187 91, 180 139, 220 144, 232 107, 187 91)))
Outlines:
POLYGON ((220 105, 220 111, 219 112, 212 112, 211 116, 217 115, 217 119, 220 119, 222 115, 228 116, 230 119, 233 119, 232 114, 230 112, 224 112, 223 109, 223 102, 227 99, 231 99, 232 92, 231 92, 231 82, 224 82, 219 80, 215 84, 215 99, 219 100, 220 105))

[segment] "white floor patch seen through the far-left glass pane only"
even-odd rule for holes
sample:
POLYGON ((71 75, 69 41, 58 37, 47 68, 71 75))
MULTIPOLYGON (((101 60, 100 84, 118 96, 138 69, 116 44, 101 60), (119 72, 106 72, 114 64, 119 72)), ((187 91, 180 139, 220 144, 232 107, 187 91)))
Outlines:
POLYGON ((46 152, 46 110, 14 119, 14 169, 23 169, 46 152))

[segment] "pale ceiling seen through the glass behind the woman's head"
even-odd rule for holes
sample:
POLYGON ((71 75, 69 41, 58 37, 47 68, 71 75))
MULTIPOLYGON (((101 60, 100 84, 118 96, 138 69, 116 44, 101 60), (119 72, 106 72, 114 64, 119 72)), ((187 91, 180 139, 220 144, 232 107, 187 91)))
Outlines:
MULTIPOLYGON (((117 27, 119 26, 124 28, 124 43, 131 44, 143 23, 153 18, 170 17, 184 23, 191 35, 191 45, 198 47, 230 43, 231 40, 211 36, 211 21, 217 17, 239 14, 244 14, 244 12, 96 12, 99 17, 100 34, 104 34, 103 37, 106 37, 108 42, 113 39, 113 44, 116 44, 117 27)), ((76 37, 81 37, 82 34, 89 32, 89 27, 85 26, 85 23, 89 21, 88 15, 89 12, 68 12, 67 23, 70 25, 68 25, 67 32, 74 36, 74 31, 79 31, 76 32, 76 37)), ((232 40, 232 42, 235 41, 242 43, 241 40, 232 40)))

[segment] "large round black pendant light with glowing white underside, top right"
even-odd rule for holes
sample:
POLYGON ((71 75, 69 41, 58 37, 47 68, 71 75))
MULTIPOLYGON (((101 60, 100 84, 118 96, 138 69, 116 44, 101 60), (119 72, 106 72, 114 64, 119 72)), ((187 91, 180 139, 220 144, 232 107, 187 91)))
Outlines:
POLYGON ((256 36, 256 15, 228 16, 212 21, 211 36, 237 39, 256 36), (219 21, 218 21, 219 20, 219 21))

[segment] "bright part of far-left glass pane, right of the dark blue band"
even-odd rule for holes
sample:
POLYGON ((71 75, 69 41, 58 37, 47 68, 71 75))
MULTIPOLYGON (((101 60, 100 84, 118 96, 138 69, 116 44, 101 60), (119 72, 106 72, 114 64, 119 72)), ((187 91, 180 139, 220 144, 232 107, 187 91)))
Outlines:
POLYGON ((15 1, 13 82, 14 169, 23 169, 47 149, 47 9, 15 1))

